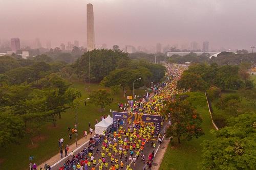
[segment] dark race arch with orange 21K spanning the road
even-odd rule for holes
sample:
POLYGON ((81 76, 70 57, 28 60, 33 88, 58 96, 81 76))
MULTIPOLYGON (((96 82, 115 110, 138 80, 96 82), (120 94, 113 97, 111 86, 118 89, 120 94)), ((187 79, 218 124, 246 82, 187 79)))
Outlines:
POLYGON ((161 131, 161 118, 162 116, 159 115, 150 115, 150 114, 143 114, 143 113, 125 113, 125 112, 112 112, 113 116, 113 128, 117 131, 118 128, 118 120, 130 120, 133 121, 140 121, 140 122, 152 122, 156 125, 155 134, 159 134, 161 131))

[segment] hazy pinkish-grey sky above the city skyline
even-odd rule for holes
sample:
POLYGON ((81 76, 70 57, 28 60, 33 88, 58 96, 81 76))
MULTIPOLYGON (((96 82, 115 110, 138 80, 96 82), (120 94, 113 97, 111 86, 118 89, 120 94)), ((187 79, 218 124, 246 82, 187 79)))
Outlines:
POLYGON ((94 5, 95 41, 120 46, 256 45, 255 0, 0 0, 0 39, 40 38, 45 46, 86 45, 86 5, 94 5))

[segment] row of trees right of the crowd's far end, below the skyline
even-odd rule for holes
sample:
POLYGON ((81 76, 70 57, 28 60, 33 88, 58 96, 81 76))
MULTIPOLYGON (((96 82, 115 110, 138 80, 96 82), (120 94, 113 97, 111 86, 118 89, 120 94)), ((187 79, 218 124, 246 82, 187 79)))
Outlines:
POLYGON ((184 71, 177 87, 191 91, 206 90, 210 86, 222 90, 252 89, 253 82, 248 80, 248 77, 243 65, 194 64, 184 71))

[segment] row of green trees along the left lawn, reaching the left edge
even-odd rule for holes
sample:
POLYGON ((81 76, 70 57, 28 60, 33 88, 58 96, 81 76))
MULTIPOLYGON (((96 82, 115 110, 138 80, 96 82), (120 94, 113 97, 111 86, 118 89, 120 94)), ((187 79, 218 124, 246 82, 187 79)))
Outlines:
POLYGON ((26 127, 27 131, 39 134, 47 122, 56 126, 57 118, 73 107, 74 100, 80 96, 78 90, 70 88, 56 74, 39 79, 37 83, 1 87, 0 127, 4 130, 1 130, 0 145, 17 142, 25 135, 26 127))

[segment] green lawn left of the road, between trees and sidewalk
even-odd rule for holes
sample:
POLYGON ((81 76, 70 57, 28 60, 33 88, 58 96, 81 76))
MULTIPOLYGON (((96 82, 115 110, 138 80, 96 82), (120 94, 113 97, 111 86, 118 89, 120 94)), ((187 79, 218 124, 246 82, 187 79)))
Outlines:
MULTIPOLYGON (((89 97, 88 84, 72 82, 71 87, 81 91, 81 99, 87 99, 89 97)), ((109 88, 103 88, 98 84, 91 84, 90 91, 99 88, 110 90, 109 88)), ((135 93, 142 94, 143 91, 144 90, 135 90, 135 93)), ((129 94, 131 94, 131 90, 127 90, 127 95, 129 94)), ((93 104, 84 106, 83 102, 80 102, 79 108, 77 109, 78 139, 82 137, 82 132, 84 130, 89 130, 89 122, 91 123, 91 127, 94 127, 96 118, 100 120, 102 115, 108 115, 110 113, 110 109, 118 110, 118 103, 126 102, 125 98, 122 96, 121 90, 118 94, 113 95, 113 98, 114 102, 106 107, 104 112, 99 112, 99 107, 94 106, 93 104)), ((78 101, 81 99, 78 99, 78 101)), ((68 127, 73 128, 74 125, 75 109, 69 109, 66 113, 61 114, 61 119, 57 119, 56 127, 53 127, 51 123, 42 125, 40 138, 38 136, 33 137, 34 145, 31 144, 31 135, 27 134, 23 139, 19 140, 19 144, 10 144, 7 145, 6 148, 1 148, 0 169, 28 169, 30 156, 34 156, 32 162, 37 165, 48 160, 59 152, 59 138, 63 138, 65 144, 75 142, 75 136, 73 136, 71 140, 68 137, 68 127)))

